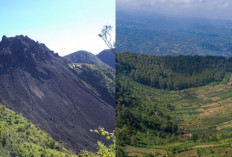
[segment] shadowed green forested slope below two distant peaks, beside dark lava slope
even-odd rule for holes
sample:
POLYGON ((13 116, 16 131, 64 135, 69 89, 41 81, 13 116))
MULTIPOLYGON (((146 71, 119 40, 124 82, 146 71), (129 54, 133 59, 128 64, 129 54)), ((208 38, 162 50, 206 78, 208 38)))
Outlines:
POLYGON ((115 70, 109 66, 85 63, 70 64, 77 76, 82 79, 99 97, 115 107, 115 70))

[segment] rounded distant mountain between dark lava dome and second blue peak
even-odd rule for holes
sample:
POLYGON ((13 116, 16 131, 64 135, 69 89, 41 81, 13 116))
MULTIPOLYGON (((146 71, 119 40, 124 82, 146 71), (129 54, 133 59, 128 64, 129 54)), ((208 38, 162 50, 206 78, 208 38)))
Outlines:
POLYGON ((94 65, 104 65, 104 63, 94 54, 80 50, 69 55, 64 56, 67 60, 72 63, 87 63, 87 64, 94 64, 94 65))

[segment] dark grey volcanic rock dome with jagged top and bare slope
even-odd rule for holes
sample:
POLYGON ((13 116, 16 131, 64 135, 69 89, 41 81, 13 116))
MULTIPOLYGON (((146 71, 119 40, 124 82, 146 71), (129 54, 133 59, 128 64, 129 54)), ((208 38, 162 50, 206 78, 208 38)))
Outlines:
POLYGON ((0 104, 22 113, 69 149, 94 150, 89 129, 114 130, 114 109, 73 73, 66 61, 25 36, 0 42, 0 104))

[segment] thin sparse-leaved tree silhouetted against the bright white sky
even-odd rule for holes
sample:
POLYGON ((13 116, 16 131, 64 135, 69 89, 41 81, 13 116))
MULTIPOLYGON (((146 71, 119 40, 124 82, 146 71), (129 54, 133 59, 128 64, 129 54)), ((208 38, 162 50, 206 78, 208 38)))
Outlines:
POLYGON ((112 38, 111 38, 111 31, 112 31, 112 26, 111 25, 105 25, 102 28, 102 31, 98 36, 102 38, 102 40, 106 43, 107 47, 109 47, 113 52, 116 54, 115 50, 115 44, 112 43, 112 38))

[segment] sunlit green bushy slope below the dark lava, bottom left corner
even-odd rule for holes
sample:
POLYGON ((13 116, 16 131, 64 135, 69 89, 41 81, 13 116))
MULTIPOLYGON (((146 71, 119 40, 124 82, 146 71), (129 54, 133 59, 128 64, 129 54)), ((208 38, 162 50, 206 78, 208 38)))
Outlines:
POLYGON ((0 105, 0 156, 71 157, 72 152, 27 119, 0 105))

